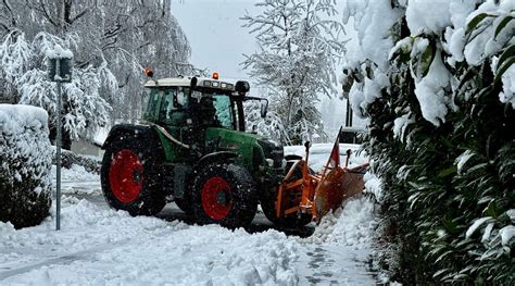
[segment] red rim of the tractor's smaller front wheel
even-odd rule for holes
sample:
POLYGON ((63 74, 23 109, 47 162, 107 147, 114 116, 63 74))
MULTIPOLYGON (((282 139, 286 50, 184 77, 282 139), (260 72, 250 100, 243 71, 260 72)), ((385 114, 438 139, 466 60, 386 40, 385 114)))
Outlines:
POLYGON ((219 221, 227 216, 231 207, 229 184, 222 177, 212 177, 202 187, 202 207, 205 214, 219 221))

